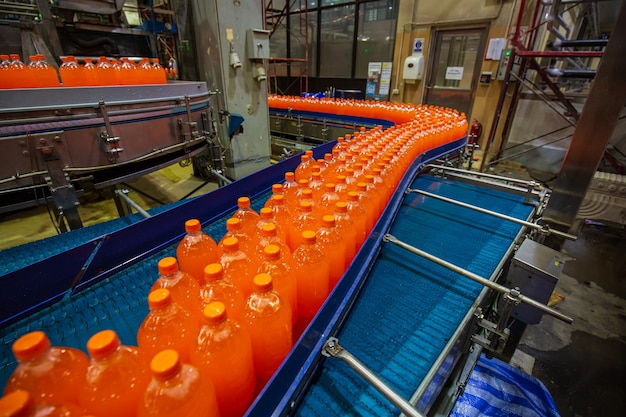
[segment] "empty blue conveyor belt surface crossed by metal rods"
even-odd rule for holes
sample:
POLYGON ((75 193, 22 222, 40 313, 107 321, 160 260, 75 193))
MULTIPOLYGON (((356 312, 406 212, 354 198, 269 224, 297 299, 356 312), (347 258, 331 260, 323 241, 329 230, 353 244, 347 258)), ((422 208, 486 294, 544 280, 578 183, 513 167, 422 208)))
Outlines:
MULTIPOLYGON (((527 219, 523 197, 430 176, 411 188, 527 219)), ((520 226, 418 194, 406 195, 390 233, 490 277, 520 226)), ((391 243, 383 243, 339 343, 409 399, 461 323, 482 286, 391 243)), ((303 416, 397 415, 398 410, 339 359, 326 359, 304 396, 303 416)))

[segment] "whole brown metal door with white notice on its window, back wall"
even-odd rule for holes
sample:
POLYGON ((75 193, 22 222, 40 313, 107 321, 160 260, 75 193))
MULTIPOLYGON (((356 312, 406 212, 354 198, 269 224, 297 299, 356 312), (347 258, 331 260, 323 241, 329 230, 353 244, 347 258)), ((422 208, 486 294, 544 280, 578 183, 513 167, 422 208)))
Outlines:
POLYGON ((487 26, 435 29, 424 103, 470 115, 487 40, 487 26))

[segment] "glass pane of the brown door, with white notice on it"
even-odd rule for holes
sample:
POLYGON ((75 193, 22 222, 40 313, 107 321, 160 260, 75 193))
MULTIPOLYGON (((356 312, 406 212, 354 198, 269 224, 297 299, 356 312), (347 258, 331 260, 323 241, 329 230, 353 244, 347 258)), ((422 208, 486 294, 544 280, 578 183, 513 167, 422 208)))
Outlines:
POLYGON ((442 36, 435 87, 471 89, 479 46, 477 35, 442 36))

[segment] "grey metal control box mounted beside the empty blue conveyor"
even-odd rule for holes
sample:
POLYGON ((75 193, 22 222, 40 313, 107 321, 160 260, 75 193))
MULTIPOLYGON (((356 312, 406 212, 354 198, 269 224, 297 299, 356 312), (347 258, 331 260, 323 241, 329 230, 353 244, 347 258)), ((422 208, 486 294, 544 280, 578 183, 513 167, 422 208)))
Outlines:
MULTIPOLYGON (((526 239, 511 261, 505 285, 518 287, 524 296, 547 304, 565 267, 565 259, 561 252, 526 239)), ((521 303, 513 309, 511 317, 537 324, 542 314, 541 310, 521 303)))

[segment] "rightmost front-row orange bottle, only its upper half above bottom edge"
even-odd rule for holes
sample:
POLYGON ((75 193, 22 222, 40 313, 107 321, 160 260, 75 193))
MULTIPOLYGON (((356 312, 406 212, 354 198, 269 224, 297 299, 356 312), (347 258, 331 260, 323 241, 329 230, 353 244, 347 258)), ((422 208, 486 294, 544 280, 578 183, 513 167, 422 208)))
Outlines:
POLYGON ((215 387, 178 352, 166 349, 150 361, 152 380, 139 401, 137 417, 219 417, 215 387))

